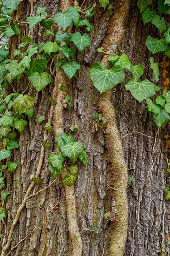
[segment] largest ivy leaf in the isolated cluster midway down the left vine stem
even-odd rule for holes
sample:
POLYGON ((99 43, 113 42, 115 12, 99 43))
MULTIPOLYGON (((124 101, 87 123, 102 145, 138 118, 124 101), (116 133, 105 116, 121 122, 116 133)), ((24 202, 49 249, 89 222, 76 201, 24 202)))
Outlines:
POLYGON ((73 163, 77 161, 78 156, 83 150, 83 145, 79 141, 74 142, 73 144, 68 143, 61 147, 61 153, 64 156, 68 156, 73 163))

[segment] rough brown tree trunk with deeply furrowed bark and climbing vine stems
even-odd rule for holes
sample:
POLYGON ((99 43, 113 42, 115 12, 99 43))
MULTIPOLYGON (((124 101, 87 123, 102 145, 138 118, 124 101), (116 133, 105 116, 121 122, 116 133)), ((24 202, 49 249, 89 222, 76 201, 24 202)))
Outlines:
MULTIPOLYGON (((37 7, 46 7, 48 17, 74 6, 68 0, 33 2, 33 14, 36 15, 37 7)), ((79 6, 83 4, 83 9, 93 4, 92 0, 75 2, 79 6)), ((94 62, 109 65, 105 54, 98 53, 97 49, 104 47, 105 52, 113 54, 111 44, 118 44, 134 65, 148 65, 150 53, 146 50, 145 40, 152 27, 142 23, 136 2, 116 0, 113 15, 109 15, 97 1, 95 15, 90 20, 94 27, 90 33, 92 45, 83 53, 76 53, 76 60, 81 65, 78 76, 69 80, 52 64, 51 85, 39 93, 31 89, 30 94, 35 97, 35 114, 18 136, 20 148, 14 152, 17 169, 13 174, 7 173, 7 190, 11 194, 5 203, 7 218, 1 223, 1 243, 8 246, 2 255, 10 252, 11 256, 159 256, 163 238, 163 243, 167 243, 170 209, 169 202, 164 202, 163 189, 166 182, 170 182, 164 141, 168 127, 158 129, 147 114, 145 102, 139 104, 130 92, 125 91, 124 83, 100 95, 88 76, 94 62), (60 103, 63 97, 59 90, 61 84, 65 84, 72 97, 72 109, 64 109, 60 103), (58 104, 51 106, 48 97, 58 104), (96 112, 108 120, 105 131, 100 127, 98 131, 92 129, 92 117, 96 112), (40 125, 36 118, 38 114, 46 116, 40 125), (78 178, 73 187, 66 187, 61 177, 52 183, 48 152, 57 149, 53 137, 43 132, 47 121, 53 122, 53 136, 63 132, 73 135, 69 126, 78 126, 74 140, 82 142, 89 157, 86 166, 78 164, 78 178), (44 136, 48 136, 52 143, 46 150, 41 146, 44 136), (40 168, 39 177, 44 181, 30 187, 30 175, 35 175, 37 168, 40 168), (129 192, 128 175, 133 178, 129 192), (45 189, 50 183, 52 185, 45 189), (26 199, 28 188, 31 189, 29 195, 44 190, 26 199), (11 232, 24 198, 26 205, 11 232), (99 231, 91 231, 92 227, 99 227, 99 231), (9 234, 12 235, 10 241, 9 234)), ((30 12, 30 2, 23 0, 17 13, 18 20, 25 21, 30 12)), ((76 28, 72 29, 76 31, 76 28)), ((12 57, 13 49, 28 32, 28 26, 22 24, 20 37, 13 36, 10 41, 12 57)), ((31 30, 30 37, 38 44, 52 40, 44 37, 44 28, 39 25, 31 30)), ((155 61, 163 61, 162 55, 157 54, 155 61)), ((142 78, 153 80, 149 68, 144 69, 142 78)), ((26 87, 23 75, 14 89, 23 93, 26 87)), ((169 248, 166 251, 170 252, 169 248)))

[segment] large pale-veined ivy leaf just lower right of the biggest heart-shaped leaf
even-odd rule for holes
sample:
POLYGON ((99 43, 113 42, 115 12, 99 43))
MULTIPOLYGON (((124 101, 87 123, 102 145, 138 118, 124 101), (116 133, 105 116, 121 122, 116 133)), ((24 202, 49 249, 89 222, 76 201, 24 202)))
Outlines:
POLYGON ((139 103, 155 95, 154 84, 147 79, 142 82, 131 80, 125 85, 125 88, 131 92, 133 97, 137 99, 139 103))

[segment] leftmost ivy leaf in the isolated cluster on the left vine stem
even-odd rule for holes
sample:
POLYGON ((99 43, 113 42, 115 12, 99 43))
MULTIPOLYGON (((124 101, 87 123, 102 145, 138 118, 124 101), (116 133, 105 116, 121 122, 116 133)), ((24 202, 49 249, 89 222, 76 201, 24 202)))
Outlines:
POLYGON ((54 168, 56 168, 58 171, 60 171, 63 168, 63 162, 65 158, 59 151, 58 154, 55 154, 54 152, 48 153, 48 162, 52 164, 54 168))

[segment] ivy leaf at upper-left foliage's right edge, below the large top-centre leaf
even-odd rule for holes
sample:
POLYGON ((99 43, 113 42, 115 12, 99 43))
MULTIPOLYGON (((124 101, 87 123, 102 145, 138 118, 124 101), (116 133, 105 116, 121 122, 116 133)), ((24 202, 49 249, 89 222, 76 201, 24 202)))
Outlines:
POLYGON ((76 32, 70 37, 70 40, 78 47, 78 51, 81 53, 84 51, 85 47, 91 45, 91 39, 88 34, 83 34, 76 32))

